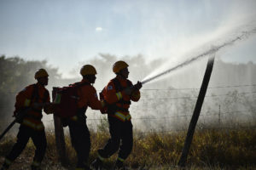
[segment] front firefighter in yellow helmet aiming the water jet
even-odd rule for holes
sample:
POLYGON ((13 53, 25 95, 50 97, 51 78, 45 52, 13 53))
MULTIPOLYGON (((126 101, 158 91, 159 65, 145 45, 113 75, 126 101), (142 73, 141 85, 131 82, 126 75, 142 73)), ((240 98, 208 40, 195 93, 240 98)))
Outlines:
POLYGON ((91 167, 95 169, 102 168, 102 161, 112 156, 119 150, 115 169, 124 168, 123 162, 131 154, 133 135, 131 115, 129 107, 131 100, 137 102, 140 99, 140 91, 142 83, 137 82, 132 85, 128 80, 128 66, 125 61, 117 61, 113 65, 113 72, 116 77, 113 78, 108 85, 102 90, 102 97, 108 105, 108 123, 110 139, 102 150, 98 150, 98 156, 91 163, 91 167))

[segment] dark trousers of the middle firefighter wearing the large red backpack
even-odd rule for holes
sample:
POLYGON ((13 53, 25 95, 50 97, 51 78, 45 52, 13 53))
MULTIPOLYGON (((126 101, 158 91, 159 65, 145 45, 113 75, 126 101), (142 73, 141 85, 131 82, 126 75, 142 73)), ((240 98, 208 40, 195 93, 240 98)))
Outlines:
POLYGON ((84 167, 90 153, 90 132, 84 121, 68 122, 69 133, 74 150, 77 152, 77 167, 84 167))

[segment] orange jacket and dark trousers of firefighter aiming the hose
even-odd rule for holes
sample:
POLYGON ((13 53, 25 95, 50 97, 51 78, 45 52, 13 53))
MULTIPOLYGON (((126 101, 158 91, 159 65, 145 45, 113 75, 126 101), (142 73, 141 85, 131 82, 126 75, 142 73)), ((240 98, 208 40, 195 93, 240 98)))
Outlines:
POLYGON ((131 154, 133 136, 129 107, 131 100, 138 101, 140 99, 139 90, 135 90, 131 95, 125 94, 125 88, 131 86, 131 81, 115 77, 108 82, 108 86, 102 91, 102 95, 108 103, 108 122, 111 138, 108 139, 108 143, 102 150, 98 150, 98 157, 101 160, 112 156, 117 150, 119 150, 119 161, 125 161, 131 154))

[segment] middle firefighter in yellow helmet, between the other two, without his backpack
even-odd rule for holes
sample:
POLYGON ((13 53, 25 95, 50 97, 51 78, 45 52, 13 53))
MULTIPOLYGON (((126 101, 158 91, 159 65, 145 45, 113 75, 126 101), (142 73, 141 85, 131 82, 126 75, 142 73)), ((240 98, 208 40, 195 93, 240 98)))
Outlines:
POLYGON ((80 74, 83 77, 81 83, 83 86, 78 88, 78 106, 79 110, 76 116, 71 117, 67 125, 73 144, 78 156, 77 170, 90 169, 87 159, 90 153, 90 132, 86 125, 85 111, 89 106, 93 110, 100 110, 104 107, 104 101, 100 101, 96 94, 96 89, 91 85, 96 81, 96 69, 92 65, 84 65, 80 74))

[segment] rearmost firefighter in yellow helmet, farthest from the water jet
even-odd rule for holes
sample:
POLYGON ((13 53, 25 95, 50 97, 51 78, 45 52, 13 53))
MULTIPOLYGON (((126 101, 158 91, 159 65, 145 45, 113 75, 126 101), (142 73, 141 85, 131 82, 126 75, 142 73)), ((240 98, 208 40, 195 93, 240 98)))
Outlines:
POLYGON ((46 137, 44 132, 44 124, 41 121, 43 115, 42 110, 49 114, 52 113, 53 108, 49 103, 49 91, 44 88, 48 85, 48 73, 44 69, 39 69, 35 73, 35 79, 38 81, 35 84, 24 88, 16 96, 15 116, 19 116, 22 111, 25 116, 20 122, 19 133, 17 134, 17 141, 13 146, 9 155, 5 157, 3 167, 1 170, 8 169, 15 159, 20 155, 22 150, 26 147, 28 140, 31 138, 36 147, 35 156, 32 161, 32 170, 39 169, 43 161, 46 149, 46 137))

